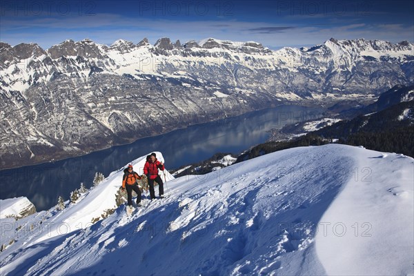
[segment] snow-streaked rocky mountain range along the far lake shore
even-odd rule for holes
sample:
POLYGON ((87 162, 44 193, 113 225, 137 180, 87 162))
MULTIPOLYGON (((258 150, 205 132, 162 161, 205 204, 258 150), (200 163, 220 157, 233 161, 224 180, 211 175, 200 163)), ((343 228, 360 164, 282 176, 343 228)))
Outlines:
POLYGON ((154 46, 0 43, 1 169, 81 155, 282 103, 375 99, 414 82, 414 44, 337 41, 269 50, 204 39, 154 46))

